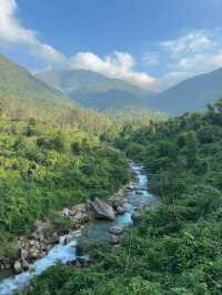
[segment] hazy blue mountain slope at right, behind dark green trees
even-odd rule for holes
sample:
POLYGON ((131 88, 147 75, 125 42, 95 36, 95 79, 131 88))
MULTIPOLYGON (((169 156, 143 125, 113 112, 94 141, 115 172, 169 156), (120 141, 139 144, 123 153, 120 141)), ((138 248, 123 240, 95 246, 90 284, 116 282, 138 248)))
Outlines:
POLYGON ((204 110, 222 98, 222 69, 185 80, 149 98, 150 106, 172 115, 204 110))

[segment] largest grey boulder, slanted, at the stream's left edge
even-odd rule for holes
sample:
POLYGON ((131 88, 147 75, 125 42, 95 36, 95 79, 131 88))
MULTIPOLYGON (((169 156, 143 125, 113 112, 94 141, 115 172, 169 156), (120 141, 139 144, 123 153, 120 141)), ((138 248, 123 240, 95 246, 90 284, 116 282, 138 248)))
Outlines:
POLYGON ((114 221, 114 210, 107 202, 97 197, 93 202, 90 202, 90 206, 97 218, 114 221))

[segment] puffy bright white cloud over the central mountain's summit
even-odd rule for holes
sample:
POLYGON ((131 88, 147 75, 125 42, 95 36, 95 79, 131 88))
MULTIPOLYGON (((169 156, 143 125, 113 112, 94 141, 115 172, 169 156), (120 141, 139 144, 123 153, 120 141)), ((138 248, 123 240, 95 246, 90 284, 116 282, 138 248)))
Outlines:
POLYGON ((109 78, 123 79, 145 89, 155 88, 155 79, 145 72, 134 71, 135 60, 127 52, 114 52, 100 58, 92 52, 79 52, 71 59, 72 69, 83 69, 104 74, 109 78))

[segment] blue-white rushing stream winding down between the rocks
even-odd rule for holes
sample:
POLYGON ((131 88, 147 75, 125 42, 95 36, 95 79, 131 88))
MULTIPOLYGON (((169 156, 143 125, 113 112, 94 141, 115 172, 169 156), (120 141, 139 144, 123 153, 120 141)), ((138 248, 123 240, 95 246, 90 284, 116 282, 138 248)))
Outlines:
MULTIPOLYGON (((61 236, 59 243, 53 245, 43 258, 39 258, 31 264, 29 271, 1 279, 0 295, 11 295, 16 289, 23 289, 29 286, 33 277, 42 274, 42 272, 57 264, 58 261, 62 264, 72 264, 74 266, 88 265, 88 263, 84 264, 84 261, 88 262, 90 258, 89 248, 84 247, 87 245, 85 242, 89 242, 90 246, 98 244, 98 242, 111 242, 110 244, 114 247, 119 245, 124 227, 133 225, 134 222, 141 220, 142 213, 152 206, 153 202, 155 203, 155 197, 148 191, 148 177, 142 167, 132 162, 130 166, 135 177, 115 195, 108 197, 105 201, 113 211, 115 207, 114 220, 98 220, 98 216, 95 218, 95 215, 92 215, 94 217, 90 222, 80 225, 82 226, 81 231, 70 231, 70 233, 61 236), (123 204, 122 214, 117 212, 117 205, 120 204, 123 204), (80 250, 82 253, 80 253, 80 250)), ((88 204, 85 206, 88 207, 88 204)), ((61 214, 67 213, 67 210, 61 212, 61 214)), ((92 214, 91 210, 90 214, 92 214)))

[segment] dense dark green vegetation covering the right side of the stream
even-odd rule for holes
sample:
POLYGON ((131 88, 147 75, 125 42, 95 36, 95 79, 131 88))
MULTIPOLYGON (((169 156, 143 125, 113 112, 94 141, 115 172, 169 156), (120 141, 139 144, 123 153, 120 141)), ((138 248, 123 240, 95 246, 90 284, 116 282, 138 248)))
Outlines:
POLYGON ((151 174, 159 207, 121 248, 97 247, 89 268, 57 265, 28 294, 222 294, 222 101, 202 114, 125 126, 115 144, 151 174))

